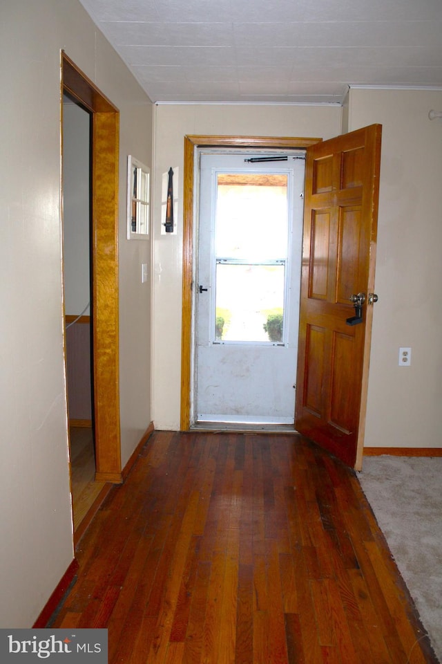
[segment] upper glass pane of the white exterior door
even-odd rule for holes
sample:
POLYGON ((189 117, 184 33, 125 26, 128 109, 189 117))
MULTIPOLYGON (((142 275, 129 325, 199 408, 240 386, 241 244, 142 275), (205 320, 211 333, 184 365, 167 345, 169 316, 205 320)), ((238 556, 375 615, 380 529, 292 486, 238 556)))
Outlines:
POLYGON ((287 175, 218 174, 215 255, 287 257, 287 175))

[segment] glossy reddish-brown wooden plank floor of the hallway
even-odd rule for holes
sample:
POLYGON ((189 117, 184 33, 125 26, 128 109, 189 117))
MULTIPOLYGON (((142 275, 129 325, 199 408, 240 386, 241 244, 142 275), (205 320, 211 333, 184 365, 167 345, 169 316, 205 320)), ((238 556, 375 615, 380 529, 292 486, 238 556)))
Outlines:
POLYGON ((52 627, 111 664, 436 663, 356 475, 296 434, 155 432, 52 627))

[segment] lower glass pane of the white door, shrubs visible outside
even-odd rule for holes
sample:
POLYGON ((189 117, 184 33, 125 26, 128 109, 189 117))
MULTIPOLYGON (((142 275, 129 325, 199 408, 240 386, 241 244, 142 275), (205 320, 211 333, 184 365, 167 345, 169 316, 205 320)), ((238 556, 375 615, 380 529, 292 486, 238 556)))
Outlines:
POLYGON ((216 266, 215 340, 282 342, 285 265, 216 266))

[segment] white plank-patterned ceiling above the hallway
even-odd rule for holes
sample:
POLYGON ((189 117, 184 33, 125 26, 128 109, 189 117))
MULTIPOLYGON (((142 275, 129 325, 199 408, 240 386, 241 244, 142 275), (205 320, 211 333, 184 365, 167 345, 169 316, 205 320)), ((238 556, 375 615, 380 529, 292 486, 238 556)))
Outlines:
POLYGON ((442 0, 80 0, 153 102, 442 89, 442 0))

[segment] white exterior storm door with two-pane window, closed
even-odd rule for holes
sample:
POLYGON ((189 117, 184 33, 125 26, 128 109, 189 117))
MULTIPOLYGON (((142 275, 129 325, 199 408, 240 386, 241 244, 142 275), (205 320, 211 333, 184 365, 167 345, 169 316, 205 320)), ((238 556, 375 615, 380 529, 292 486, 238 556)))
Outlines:
POLYGON ((193 425, 293 425, 304 155, 199 156, 193 425))

